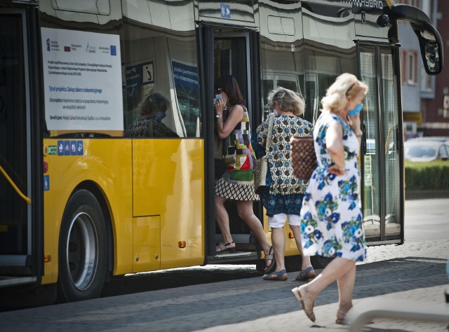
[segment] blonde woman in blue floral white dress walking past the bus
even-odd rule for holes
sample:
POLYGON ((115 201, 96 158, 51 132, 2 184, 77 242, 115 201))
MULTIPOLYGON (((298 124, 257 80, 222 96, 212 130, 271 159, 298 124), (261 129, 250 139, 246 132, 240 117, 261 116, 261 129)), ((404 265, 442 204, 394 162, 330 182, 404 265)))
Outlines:
POLYGON ((360 112, 368 91, 352 74, 342 74, 321 103, 323 110, 314 128, 318 167, 311 176, 301 210, 304 254, 335 257, 311 282, 292 289, 302 309, 315 321, 318 294, 337 281, 337 324, 352 307, 356 261, 364 261, 366 245, 358 198, 361 142, 360 112))

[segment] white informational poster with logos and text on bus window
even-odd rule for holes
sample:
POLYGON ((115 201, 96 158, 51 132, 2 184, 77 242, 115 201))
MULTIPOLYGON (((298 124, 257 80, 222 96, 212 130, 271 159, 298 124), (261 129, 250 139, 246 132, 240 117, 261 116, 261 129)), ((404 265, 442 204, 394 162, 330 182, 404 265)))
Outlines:
POLYGON ((48 130, 123 130, 118 35, 41 28, 48 130))

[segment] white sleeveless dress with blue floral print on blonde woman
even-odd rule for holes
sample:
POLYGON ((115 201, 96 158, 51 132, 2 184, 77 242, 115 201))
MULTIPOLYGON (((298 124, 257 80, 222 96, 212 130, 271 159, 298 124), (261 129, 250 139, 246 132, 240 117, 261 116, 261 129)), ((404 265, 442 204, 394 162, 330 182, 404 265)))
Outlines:
POLYGON ((311 176, 301 209, 304 255, 364 261, 366 244, 358 199, 358 139, 340 117, 323 111, 315 124, 314 145, 318 167, 311 176), (343 128, 346 172, 342 176, 328 172, 333 161, 326 150, 326 130, 333 122, 343 128))

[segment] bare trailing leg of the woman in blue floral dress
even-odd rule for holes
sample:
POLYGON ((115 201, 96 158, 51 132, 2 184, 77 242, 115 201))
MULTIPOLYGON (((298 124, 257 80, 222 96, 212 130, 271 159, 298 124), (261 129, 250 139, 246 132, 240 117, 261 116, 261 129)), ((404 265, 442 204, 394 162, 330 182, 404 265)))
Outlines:
POLYGON ((341 257, 334 258, 311 282, 292 289, 295 297, 301 298, 302 309, 312 321, 314 321, 311 317, 314 317, 313 309, 316 296, 335 280, 346 275, 355 265, 355 261, 341 257))

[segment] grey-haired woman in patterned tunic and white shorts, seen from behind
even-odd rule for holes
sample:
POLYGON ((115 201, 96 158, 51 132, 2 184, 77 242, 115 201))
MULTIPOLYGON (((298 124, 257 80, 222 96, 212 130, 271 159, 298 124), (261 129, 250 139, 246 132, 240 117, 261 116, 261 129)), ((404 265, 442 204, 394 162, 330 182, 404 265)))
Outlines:
POLYGON ((264 280, 286 280, 288 278, 284 260, 286 237, 283 228, 288 218, 288 225, 295 235, 297 248, 302 256, 301 272, 296 279, 306 281, 315 277, 310 256, 302 254, 300 212, 302 198, 307 182, 299 180, 293 174, 290 160, 290 138, 296 136, 311 136, 313 125, 300 118, 304 113, 304 99, 292 90, 276 88, 268 95, 268 105, 274 113, 257 127, 253 137, 253 147, 257 158, 265 155, 269 124, 273 122, 272 139, 268 149, 267 184, 261 195, 262 203, 267 210, 268 225, 272 228, 272 244, 276 270, 263 276, 264 280))

